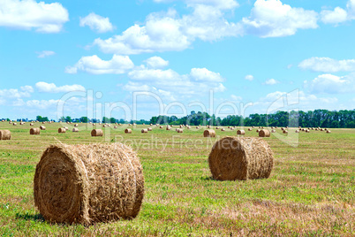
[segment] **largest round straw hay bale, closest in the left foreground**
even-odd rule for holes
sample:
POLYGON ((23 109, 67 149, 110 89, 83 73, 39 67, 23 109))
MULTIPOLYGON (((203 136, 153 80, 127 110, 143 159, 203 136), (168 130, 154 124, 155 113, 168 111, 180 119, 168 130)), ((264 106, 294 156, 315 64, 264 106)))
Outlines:
POLYGON ((121 143, 51 145, 34 175, 35 206, 50 222, 135 218, 143 194, 140 159, 121 143))

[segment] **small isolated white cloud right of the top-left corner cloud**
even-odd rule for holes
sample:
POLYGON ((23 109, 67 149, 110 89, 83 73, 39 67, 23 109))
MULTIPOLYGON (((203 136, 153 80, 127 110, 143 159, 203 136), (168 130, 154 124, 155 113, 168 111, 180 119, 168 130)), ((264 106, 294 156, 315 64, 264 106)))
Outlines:
POLYGON ((97 33, 105 33, 113 30, 109 18, 96 15, 94 12, 91 12, 85 18, 80 18, 79 26, 90 27, 91 30, 94 30, 97 33))

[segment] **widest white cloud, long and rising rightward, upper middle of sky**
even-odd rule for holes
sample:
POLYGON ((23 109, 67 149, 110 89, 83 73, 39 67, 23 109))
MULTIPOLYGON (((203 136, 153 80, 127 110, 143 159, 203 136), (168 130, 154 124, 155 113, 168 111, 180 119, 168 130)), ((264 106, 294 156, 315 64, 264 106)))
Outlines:
MULTIPOLYGON (((202 1, 194 1, 201 2, 202 1)), ((216 1, 211 1, 215 2, 216 1)), ((193 13, 179 17, 177 11, 151 13, 144 25, 134 25, 122 34, 107 40, 94 40, 105 53, 140 54, 155 51, 185 50, 196 39, 215 41, 225 36, 238 36, 240 24, 230 23, 224 16, 224 9, 208 4, 188 4, 193 13)))

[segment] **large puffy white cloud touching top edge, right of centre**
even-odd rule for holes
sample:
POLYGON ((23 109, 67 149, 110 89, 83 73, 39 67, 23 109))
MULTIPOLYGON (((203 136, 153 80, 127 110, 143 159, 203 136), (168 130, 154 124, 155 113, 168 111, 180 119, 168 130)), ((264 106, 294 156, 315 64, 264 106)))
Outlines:
POLYGON ((296 34, 298 29, 316 28, 318 13, 292 8, 279 0, 257 0, 251 16, 242 22, 248 34, 280 37, 296 34))

